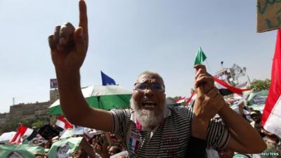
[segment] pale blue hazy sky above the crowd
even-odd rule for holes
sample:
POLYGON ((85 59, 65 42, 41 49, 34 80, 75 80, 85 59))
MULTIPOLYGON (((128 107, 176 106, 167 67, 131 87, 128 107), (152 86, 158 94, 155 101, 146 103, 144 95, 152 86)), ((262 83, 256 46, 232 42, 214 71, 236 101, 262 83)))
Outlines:
MULTIPOLYGON (((81 86, 101 85, 100 70, 129 91, 138 74, 159 72, 166 96, 190 96, 199 46, 210 74, 234 63, 249 79, 270 79, 276 30, 256 32, 256 1, 86 0, 89 49, 81 86)), ((79 22, 77 0, 0 1, 0 113, 49 100, 55 69, 48 35, 79 22)))

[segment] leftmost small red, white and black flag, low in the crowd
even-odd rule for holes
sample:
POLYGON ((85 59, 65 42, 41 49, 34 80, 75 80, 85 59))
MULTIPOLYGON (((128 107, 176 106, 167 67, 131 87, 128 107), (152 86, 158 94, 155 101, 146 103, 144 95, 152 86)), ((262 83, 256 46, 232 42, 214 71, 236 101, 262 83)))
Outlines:
POLYGON ((17 133, 15 133, 15 136, 10 140, 10 144, 17 144, 19 145, 22 143, 22 140, 26 137, 28 141, 32 140, 34 137, 37 136, 37 131, 27 128, 26 126, 23 126, 20 124, 18 127, 17 133))

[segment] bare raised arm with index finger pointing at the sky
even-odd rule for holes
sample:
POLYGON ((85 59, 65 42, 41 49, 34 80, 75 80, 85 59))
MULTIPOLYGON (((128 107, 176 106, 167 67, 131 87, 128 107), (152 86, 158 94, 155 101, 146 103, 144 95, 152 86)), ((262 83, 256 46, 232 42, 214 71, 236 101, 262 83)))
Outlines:
POLYGON ((86 3, 79 0, 79 27, 71 23, 55 27, 48 37, 60 93, 60 106, 65 117, 75 125, 112 131, 110 112, 89 107, 81 93, 80 67, 89 44, 86 3), (103 120, 103 121, 101 121, 103 120))

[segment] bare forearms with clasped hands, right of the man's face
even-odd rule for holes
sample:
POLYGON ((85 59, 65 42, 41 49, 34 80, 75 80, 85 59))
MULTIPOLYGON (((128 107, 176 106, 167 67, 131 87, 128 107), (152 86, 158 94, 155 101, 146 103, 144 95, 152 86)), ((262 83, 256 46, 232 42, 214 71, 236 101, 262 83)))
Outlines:
POLYGON ((195 69, 197 70, 195 88, 198 96, 193 110, 192 136, 206 139, 210 119, 218 113, 230 132, 227 148, 242 153, 259 153, 265 150, 266 145, 259 133, 239 114, 231 110, 223 97, 218 94, 218 90, 214 87, 214 79, 207 73, 204 65, 196 65, 195 69))

